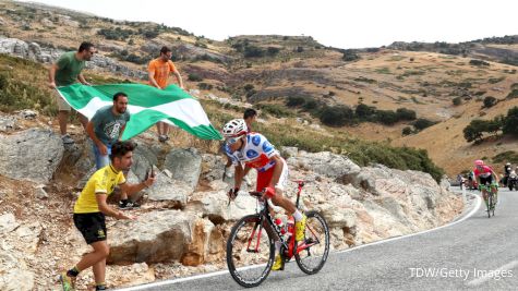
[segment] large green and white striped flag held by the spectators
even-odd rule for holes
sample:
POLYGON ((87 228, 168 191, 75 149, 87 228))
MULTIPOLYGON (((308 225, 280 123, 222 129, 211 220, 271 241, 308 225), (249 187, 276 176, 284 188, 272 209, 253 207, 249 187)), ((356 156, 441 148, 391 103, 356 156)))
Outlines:
POLYGON ((169 85, 164 89, 144 84, 108 84, 85 86, 74 84, 59 87, 63 99, 75 110, 92 119, 97 109, 113 104, 113 95, 128 95, 128 111, 131 114, 122 140, 129 140, 164 121, 203 140, 221 140, 214 129, 200 101, 179 88, 169 85))

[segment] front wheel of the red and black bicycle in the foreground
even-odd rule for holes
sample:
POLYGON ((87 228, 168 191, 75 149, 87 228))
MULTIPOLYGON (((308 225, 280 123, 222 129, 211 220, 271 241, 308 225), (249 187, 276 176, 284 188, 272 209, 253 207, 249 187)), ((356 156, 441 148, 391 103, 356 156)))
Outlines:
POLYGON ((275 258, 274 234, 260 216, 241 218, 227 241, 227 265, 232 278, 242 287, 256 287, 268 276, 275 258))

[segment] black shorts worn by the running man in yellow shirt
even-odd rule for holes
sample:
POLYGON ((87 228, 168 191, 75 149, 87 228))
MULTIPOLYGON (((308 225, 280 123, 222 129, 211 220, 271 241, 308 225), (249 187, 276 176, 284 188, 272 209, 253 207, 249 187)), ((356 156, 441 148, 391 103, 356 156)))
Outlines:
POLYGON ((106 241, 106 222, 103 213, 74 214, 74 225, 87 244, 106 241))

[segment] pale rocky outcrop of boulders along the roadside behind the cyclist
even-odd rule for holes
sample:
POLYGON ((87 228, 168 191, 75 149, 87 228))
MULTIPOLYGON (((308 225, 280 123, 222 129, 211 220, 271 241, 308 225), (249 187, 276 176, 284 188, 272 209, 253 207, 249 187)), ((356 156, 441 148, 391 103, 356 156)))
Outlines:
MULTIPOLYGON (((63 147, 49 121, 34 111, 0 116, 1 290, 56 289, 58 271, 88 252, 71 216, 79 190, 94 168, 91 144, 81 130, 72 129, 77 143, 63 147)), ((225 268, 230 227, 254 213, 255 199, 241 194, 227 205, 232 179, 221 181, 220 155, 157 144, 148 132, 136 142, 129 180, 143 179, 155 165, 157 183, 140 193, 143 206, 131 210, 136 220, 107 221, 108 284, 225 268)), ((309 182, 302 207, 324 215, 333 250, 437 227, 462 210, 461 198, 448 191, 447 182, 437 184, 423 172, 359 167, 328 151, 311 154, 294 147, 281 151, 289 157, 290 178, 309 182)), ((290 182, 287 195, 293 198, 296 183, 290 182)), ((91 271, 81 276, 80 290, 92 286, 92 276, 91 271)))

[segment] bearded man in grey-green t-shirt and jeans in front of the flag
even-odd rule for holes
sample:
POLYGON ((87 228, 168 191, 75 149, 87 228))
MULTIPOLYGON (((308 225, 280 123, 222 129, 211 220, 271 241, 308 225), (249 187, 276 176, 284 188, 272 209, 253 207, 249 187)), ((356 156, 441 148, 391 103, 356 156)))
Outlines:
MULTIPOLYGON (((110 163, 111 146, 120 141, 125 124, 130 121, 128 111, 128 95, 119 92, 113 95, 113 105, 99 108, 92 120, 86 124, 86 133, 93 141, 95 167, 97 170, 110 163)), ((127 172, 124 172, 124 177, 127 172)), ((131 202, 128 194, 121 192, 119 207, 129 209, 140 205, 131 202)))

